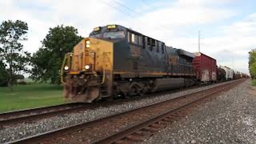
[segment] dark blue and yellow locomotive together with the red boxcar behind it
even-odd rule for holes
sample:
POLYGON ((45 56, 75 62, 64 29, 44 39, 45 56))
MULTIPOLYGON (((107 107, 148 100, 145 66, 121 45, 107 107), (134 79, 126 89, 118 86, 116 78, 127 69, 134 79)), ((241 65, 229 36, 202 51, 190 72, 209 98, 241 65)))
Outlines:
POLYGON ((73 102, 130 97, 217 81, 216 60, 132 29, 96 27, 62 63, 64 97, 73 102))

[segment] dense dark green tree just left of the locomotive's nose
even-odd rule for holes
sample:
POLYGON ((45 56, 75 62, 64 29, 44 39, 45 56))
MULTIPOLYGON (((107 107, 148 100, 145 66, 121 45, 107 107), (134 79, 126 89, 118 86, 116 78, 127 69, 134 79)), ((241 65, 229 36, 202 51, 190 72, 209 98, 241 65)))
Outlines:
POLYGON ((34 53, 31 63, 33 65, 32 77, 39 81, 60 83, 60 67, 67 52, 82 40, 77 35, 77 29, 71 26, 57 26, 50 28, 49 34, 42 41, 42 47, 34 53))

